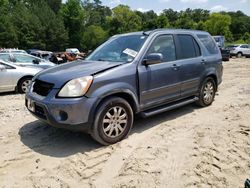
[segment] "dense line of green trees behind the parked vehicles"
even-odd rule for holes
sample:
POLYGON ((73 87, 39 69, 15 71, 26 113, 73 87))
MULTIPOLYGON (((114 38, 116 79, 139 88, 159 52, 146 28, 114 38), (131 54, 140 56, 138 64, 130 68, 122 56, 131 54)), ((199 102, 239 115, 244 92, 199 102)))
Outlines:
POLYGON ((0 0, 0 47, 5 48, 88 51, 112 35, 156 28, 205 30, 228 42, 250 43, 250 17, 241 11, 166 7, 157 15, 126 5, 110 9, 100 0, 0 0))

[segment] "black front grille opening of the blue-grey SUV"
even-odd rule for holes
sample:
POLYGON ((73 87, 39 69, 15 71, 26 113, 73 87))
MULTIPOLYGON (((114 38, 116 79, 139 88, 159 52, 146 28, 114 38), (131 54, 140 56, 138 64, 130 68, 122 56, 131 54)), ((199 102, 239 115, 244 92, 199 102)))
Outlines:
POLYGON ((33 85, 33 92, 46 97, 53 87, 54 84, 52 83, 44 82, 41 80, 35 80, 35 83, 33 85))

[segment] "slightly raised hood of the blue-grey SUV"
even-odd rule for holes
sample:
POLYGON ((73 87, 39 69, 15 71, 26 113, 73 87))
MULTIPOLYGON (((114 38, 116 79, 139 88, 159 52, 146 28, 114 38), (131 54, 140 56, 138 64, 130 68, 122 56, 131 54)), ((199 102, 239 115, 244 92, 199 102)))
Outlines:
POLYGON ((82 61, 77 60, 56 67, 46 69, 37 74, 33 80, 53 83, 54 88, 61 88, 66 82, 83 77, 98 74, 105 70, 121 65, 121 62, 82 61))

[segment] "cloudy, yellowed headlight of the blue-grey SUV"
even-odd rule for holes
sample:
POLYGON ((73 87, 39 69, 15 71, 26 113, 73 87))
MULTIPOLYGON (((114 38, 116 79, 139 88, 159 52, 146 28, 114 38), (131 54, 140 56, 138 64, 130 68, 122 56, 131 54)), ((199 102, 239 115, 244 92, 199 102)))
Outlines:
POLYGON ((70 80, 59 92, 59 97, 81 97, 89 89, 93 76, 85 76, 70 80))

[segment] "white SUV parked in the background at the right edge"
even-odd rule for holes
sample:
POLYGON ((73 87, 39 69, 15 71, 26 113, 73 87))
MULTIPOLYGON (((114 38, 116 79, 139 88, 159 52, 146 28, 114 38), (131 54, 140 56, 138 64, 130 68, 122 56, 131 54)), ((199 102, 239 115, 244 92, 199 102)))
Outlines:
POLYGON ((250 57, 250 45, 249 44, 233 44, 233 45, 227 46, 227 49, 230 50, 231 56, 250 57))

